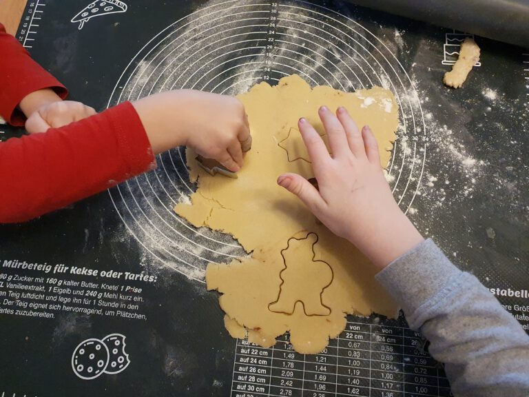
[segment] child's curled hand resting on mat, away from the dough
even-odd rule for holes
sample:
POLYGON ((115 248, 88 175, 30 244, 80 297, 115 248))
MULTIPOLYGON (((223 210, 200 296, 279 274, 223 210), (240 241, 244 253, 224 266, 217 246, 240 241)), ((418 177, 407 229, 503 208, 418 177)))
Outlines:
POLYGON ((25 129, 30 133, 45 132, 48 128, 59 128, 96 114, 90 106, 75 101, 56 101, 41 105, 25 121, 25 129))

